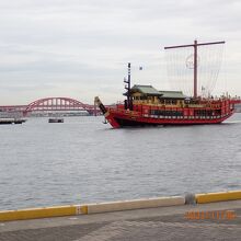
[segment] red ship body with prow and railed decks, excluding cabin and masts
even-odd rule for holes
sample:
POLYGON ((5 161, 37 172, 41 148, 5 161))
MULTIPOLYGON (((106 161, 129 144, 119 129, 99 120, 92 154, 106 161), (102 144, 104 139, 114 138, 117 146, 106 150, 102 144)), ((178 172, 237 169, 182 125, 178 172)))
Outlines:
POLYGON ((134 104, 133 111, 123 104, 105 107, 99 97, 95 102, 106 120, 114 127, 154 125, 220 124, 234 113, 236 100, 198 100, 180 105, 134 104))

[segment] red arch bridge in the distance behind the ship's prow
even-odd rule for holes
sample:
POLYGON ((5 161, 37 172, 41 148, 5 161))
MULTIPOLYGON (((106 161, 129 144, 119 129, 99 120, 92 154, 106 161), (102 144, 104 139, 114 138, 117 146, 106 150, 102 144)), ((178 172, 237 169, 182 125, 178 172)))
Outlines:
POLYGON ((72 111, 85 111, 90 115, 97 115, 100 111, 95 105, 83 104, 80 101, 70 97, 45 97, 36 100, 28 105, 5 105, 0 106, 2 112, 21 112, 23 116, 27 116, 31 113, 41 112, 72 112, 72 111))

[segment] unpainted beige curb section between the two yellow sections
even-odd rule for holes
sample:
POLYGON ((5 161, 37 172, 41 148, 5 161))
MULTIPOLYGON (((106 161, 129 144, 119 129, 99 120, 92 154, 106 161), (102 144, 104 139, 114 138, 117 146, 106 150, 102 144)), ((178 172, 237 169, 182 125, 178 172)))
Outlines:
POLYGON ((88 214, 175 206, 175 205, 184 205, 184 204, 185 204, 185 198, 182 196, 111 202, 111 203, 88 205, 88 214))

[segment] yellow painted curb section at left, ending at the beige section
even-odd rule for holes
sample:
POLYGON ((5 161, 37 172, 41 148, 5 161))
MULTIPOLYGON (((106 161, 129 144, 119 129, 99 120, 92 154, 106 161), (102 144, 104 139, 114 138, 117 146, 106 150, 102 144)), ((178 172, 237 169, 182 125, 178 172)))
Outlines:
POLYGON ((51 218, 51 217, 62 217, 62 216, 72 216, 72 215, 81 215, 81 214, 88 214, 88 207, 85 205, 28 208, 22 210, 0 211, 0 221, 51 218))

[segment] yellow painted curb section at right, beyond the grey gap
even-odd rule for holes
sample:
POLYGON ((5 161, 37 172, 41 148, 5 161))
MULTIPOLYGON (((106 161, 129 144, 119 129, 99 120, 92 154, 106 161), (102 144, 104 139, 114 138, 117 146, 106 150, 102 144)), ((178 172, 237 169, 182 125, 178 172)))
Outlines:
POLYGON ((197 204, 206 204, 214 202, 238 200, 241 199, 241 191, 230 191, 221 193, 203 193, 195 195, 197 204))

